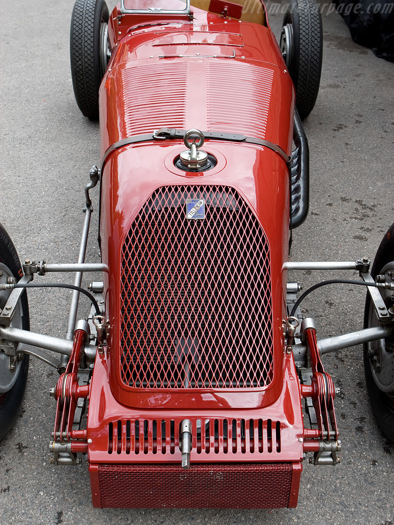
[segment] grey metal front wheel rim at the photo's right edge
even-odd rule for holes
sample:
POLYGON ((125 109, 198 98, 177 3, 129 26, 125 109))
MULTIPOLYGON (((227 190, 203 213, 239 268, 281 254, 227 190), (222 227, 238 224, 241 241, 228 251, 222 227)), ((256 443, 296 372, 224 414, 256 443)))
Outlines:
MULTIPOLYGON (((386 280, 393 280, 394 262, 382 268, 380 275, 385 275, 386 280)), ((382 290, 381 295, 386 304, 386 308, 392 307, 392 291, 382 290)), ((379 321, 375 309, 370 304, 369 308, 369 326, 379 326, 379 321)), ((394 406, 394 336, 378 341, 368 343, 369 365, 372 377, 376 386, 385 394, 388 394, 390 403, 394 406)))

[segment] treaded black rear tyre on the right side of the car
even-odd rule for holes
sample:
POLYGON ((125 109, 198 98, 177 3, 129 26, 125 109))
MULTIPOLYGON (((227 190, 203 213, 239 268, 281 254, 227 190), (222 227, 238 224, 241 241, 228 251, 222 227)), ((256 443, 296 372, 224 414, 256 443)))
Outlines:
POLYGON ((316 0, 291 0, 279 44, 296 90, 302 120, 313 110, 322 72, 323 28, 316 0))

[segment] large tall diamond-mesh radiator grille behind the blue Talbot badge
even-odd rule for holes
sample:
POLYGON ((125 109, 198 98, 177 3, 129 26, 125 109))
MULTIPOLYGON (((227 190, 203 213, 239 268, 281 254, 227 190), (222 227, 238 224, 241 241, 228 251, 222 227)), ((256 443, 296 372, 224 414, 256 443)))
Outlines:
POLYGON ((272 381, 269 246, 235 190, 155 191, 126 236, 121 266, 123 383, 249 388, 272 381), (187 199, 204 200, 202 220, 186 218, 187 199))

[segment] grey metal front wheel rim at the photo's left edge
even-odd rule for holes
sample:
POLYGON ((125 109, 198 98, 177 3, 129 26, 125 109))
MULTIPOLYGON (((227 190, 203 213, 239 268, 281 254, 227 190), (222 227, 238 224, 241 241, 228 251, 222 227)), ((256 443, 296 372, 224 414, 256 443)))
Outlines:
MULTIPOLYGON (((8 277, 13 277, 11 270, 4 264, 0 263, 0 283, 6 283, 8 277)), ((3 310, 7 302, 10 291, 0 292, 0 309, 3 310)), ((11 321, 12 328, 22 328, 22 308, 20 306, 20 301, 17 304, 15 309, 14 317, 11 321)), ((18 361, 15 364, 15 369, 13 371, 9 370, 8 367, 8 355, 3 351, 0 351, 0 403, 3 401, 4 396, 11 390, 14 386, 20 367, 22 366, 22 361, 18 361)))

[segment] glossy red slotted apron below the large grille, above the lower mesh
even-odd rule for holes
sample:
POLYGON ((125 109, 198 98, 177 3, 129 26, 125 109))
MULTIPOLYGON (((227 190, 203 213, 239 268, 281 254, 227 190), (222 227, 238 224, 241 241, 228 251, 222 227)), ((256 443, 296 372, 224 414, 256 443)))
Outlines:
MULTIPOLYGON (((284 363, 284 380, 281 388, 281 395, 275 403, 265 408, 253 408, 250 407, 245 410, 245 407, 227 411, 218 410, 218 406, 215 403, 215 398, 212 396, 212 402, 207 403, 206 406, 195 404, 194 408, 190 408, 187 411, 187 417, 194 422, 196 419, 215 419, 217 417, 223 418, 234 418, 240 419, 271 419, 272 421, 280 422, 281 424, 281 450, 269 450, 267 446, 267 435, 264 434, 264 446, 263 451, 258 452, 257 447, 254 452, 248 450, 246 444, 246 450, 241 455, 230 457, 230 454, 226 454, 223 451, 223 443, 220 444, 219 450, 211 449, 208 453, 197 453, 196 448, 196 435, 193 433, 192 438, 192 455, 191 461, 198 459, 199 463, 205 461, 299 461, 303 456, 303 443, 299 441, 299 438, 303 437, 303 426, 302 426, 302 414, 300 406, 300 394, 299 394, 299 383, 297 378, 297 372, 295 370, 293 356, 286 354, 284 363), (219 415, 220 414, 220 415, 219 415)), ((171 420, 173 419, 176 423, 180 423, 186 415, 185 411, 173 409, 166 409, 165 407, 158 406, 155 403, 155 399, 152 400, 152 406, 144 410, 141 408, 131 408, 121 405, 111 395, 111 388, 107 380, 108 377, 108 360, 104 355, 97 355, 95 363, 95 373, 91 382, 90 387, 90 398, 95 400, 94 406, 89 406, 89 425, 88 425, 88 439, 91 439, 89 445, 89 462, 100 463, 105 458, 105 463, 128 463, 131 459, 134 461, 144 460, 148 463, 180 463, 181 451, 179 449, 179 430, 175 430, 175 443, 174 450, 170 453, 170 443, 167 439, 165 446, 167 447, 166 453, 159 454, 152 450, 152 443, 149 442, 149 450, 144 453, 134 453, 130 456, 130 450, 127 451, 125 439, 122 439, 120 449, 114 453, 109 453, 109 438, 108 438, 108 425, 110 423, 117 423, 118 421, 136 420, 171 420), (134 455, 135 454, 135 455, 134 455)), ((208 397, 210 394, 206 394, 208 397)), ((152 397, 154 395, 152 394, 152 397)), ((175 428, 177 425, 175 425, 175 428)), ((255 429, 256 430, 256 429, 255 429)), ((142 431, 142 429, 141 429, 142 431)), ((116 428, 113 430, 114 437, 113 441, 117 442, 116 428)), ((238 428, 238 434, 240 429, 238 428)), ((168 436, 167 436, 168 437, 168 436)), ((240 436, 238 436, 240 439, 240 436)), ((246 437, 248 437, 246 435, 246 437)), ((211 435, 212 439, 212 435, 211 435)), ((257 441, 257 440, 256 440, 257 441)), ((158 445, 160 449, 160 444, 158 445)), ((241 446, 238 447, 241 450, 241 446)))

